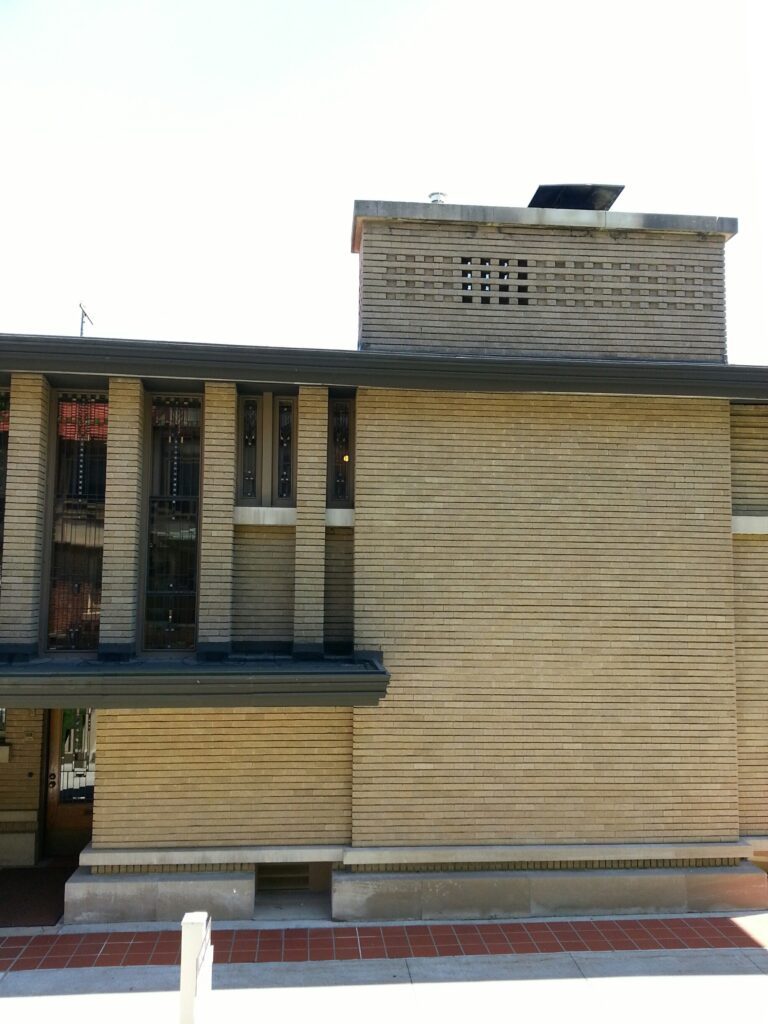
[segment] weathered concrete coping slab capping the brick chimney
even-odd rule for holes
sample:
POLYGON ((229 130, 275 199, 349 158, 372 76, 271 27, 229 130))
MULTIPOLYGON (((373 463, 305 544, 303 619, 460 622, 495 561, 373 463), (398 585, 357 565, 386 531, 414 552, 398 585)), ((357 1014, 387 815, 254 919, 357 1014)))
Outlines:
POLYGON ((672 231, 682 234, 715 234, 723 241, 738 231, 738 220, 735 217, 515 206, 459 206, 449 203, 391 203, 358 199, 354 202, 352 214, 353 253, 360 251, 362 225, 367 220, 428 220, 445 224, 570 227, 596 231, 672 231))

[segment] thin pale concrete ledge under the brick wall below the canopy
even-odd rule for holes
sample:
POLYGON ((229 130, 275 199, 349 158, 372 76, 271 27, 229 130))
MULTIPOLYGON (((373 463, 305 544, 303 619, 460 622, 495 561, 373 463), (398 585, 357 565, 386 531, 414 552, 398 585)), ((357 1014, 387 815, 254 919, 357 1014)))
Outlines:
MULTIPOLYGON (((342 846, 175 846, 167 849, 125 849, 111 847, 95 850, 86 846, 80 854, 82 867, 135 867, 165 864, 313 864, 340 863, 342 846)), ((99 876, 102 878, 103 876, 99 876)))

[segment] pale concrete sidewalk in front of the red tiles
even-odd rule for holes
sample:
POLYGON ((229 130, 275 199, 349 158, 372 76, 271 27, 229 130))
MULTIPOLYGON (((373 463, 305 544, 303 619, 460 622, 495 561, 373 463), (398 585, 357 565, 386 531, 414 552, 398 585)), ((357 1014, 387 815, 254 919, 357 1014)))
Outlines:
MULTIPOLYGON (((178 969, 69 969, 0 978, 3 1024, 173 1022, 178 969)), ((768 1004, 764 949, 546 953, 431 959, 220 965, 205 1021, 388 1022, 561 1018, 722 1024, 768 1004)))

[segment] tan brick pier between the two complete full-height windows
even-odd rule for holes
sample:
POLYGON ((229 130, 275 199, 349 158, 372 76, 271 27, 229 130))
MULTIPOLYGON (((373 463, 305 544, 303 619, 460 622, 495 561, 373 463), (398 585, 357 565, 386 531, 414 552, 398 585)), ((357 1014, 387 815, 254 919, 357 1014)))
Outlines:
POLYGON ((106 445, 101 644, 136 643, 143 450, 143 385, 134 378, 114 377, 106 445))

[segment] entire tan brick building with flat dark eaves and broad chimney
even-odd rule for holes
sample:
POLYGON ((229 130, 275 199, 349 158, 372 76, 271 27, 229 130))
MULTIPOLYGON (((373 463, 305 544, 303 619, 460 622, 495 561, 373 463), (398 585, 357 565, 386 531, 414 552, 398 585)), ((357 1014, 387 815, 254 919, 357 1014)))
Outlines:
POLYGON ((0 337, 0 862, 82 849, 70 920, 768 905, 736 223, 538 196, 357 203, 356 352, 0 337))

